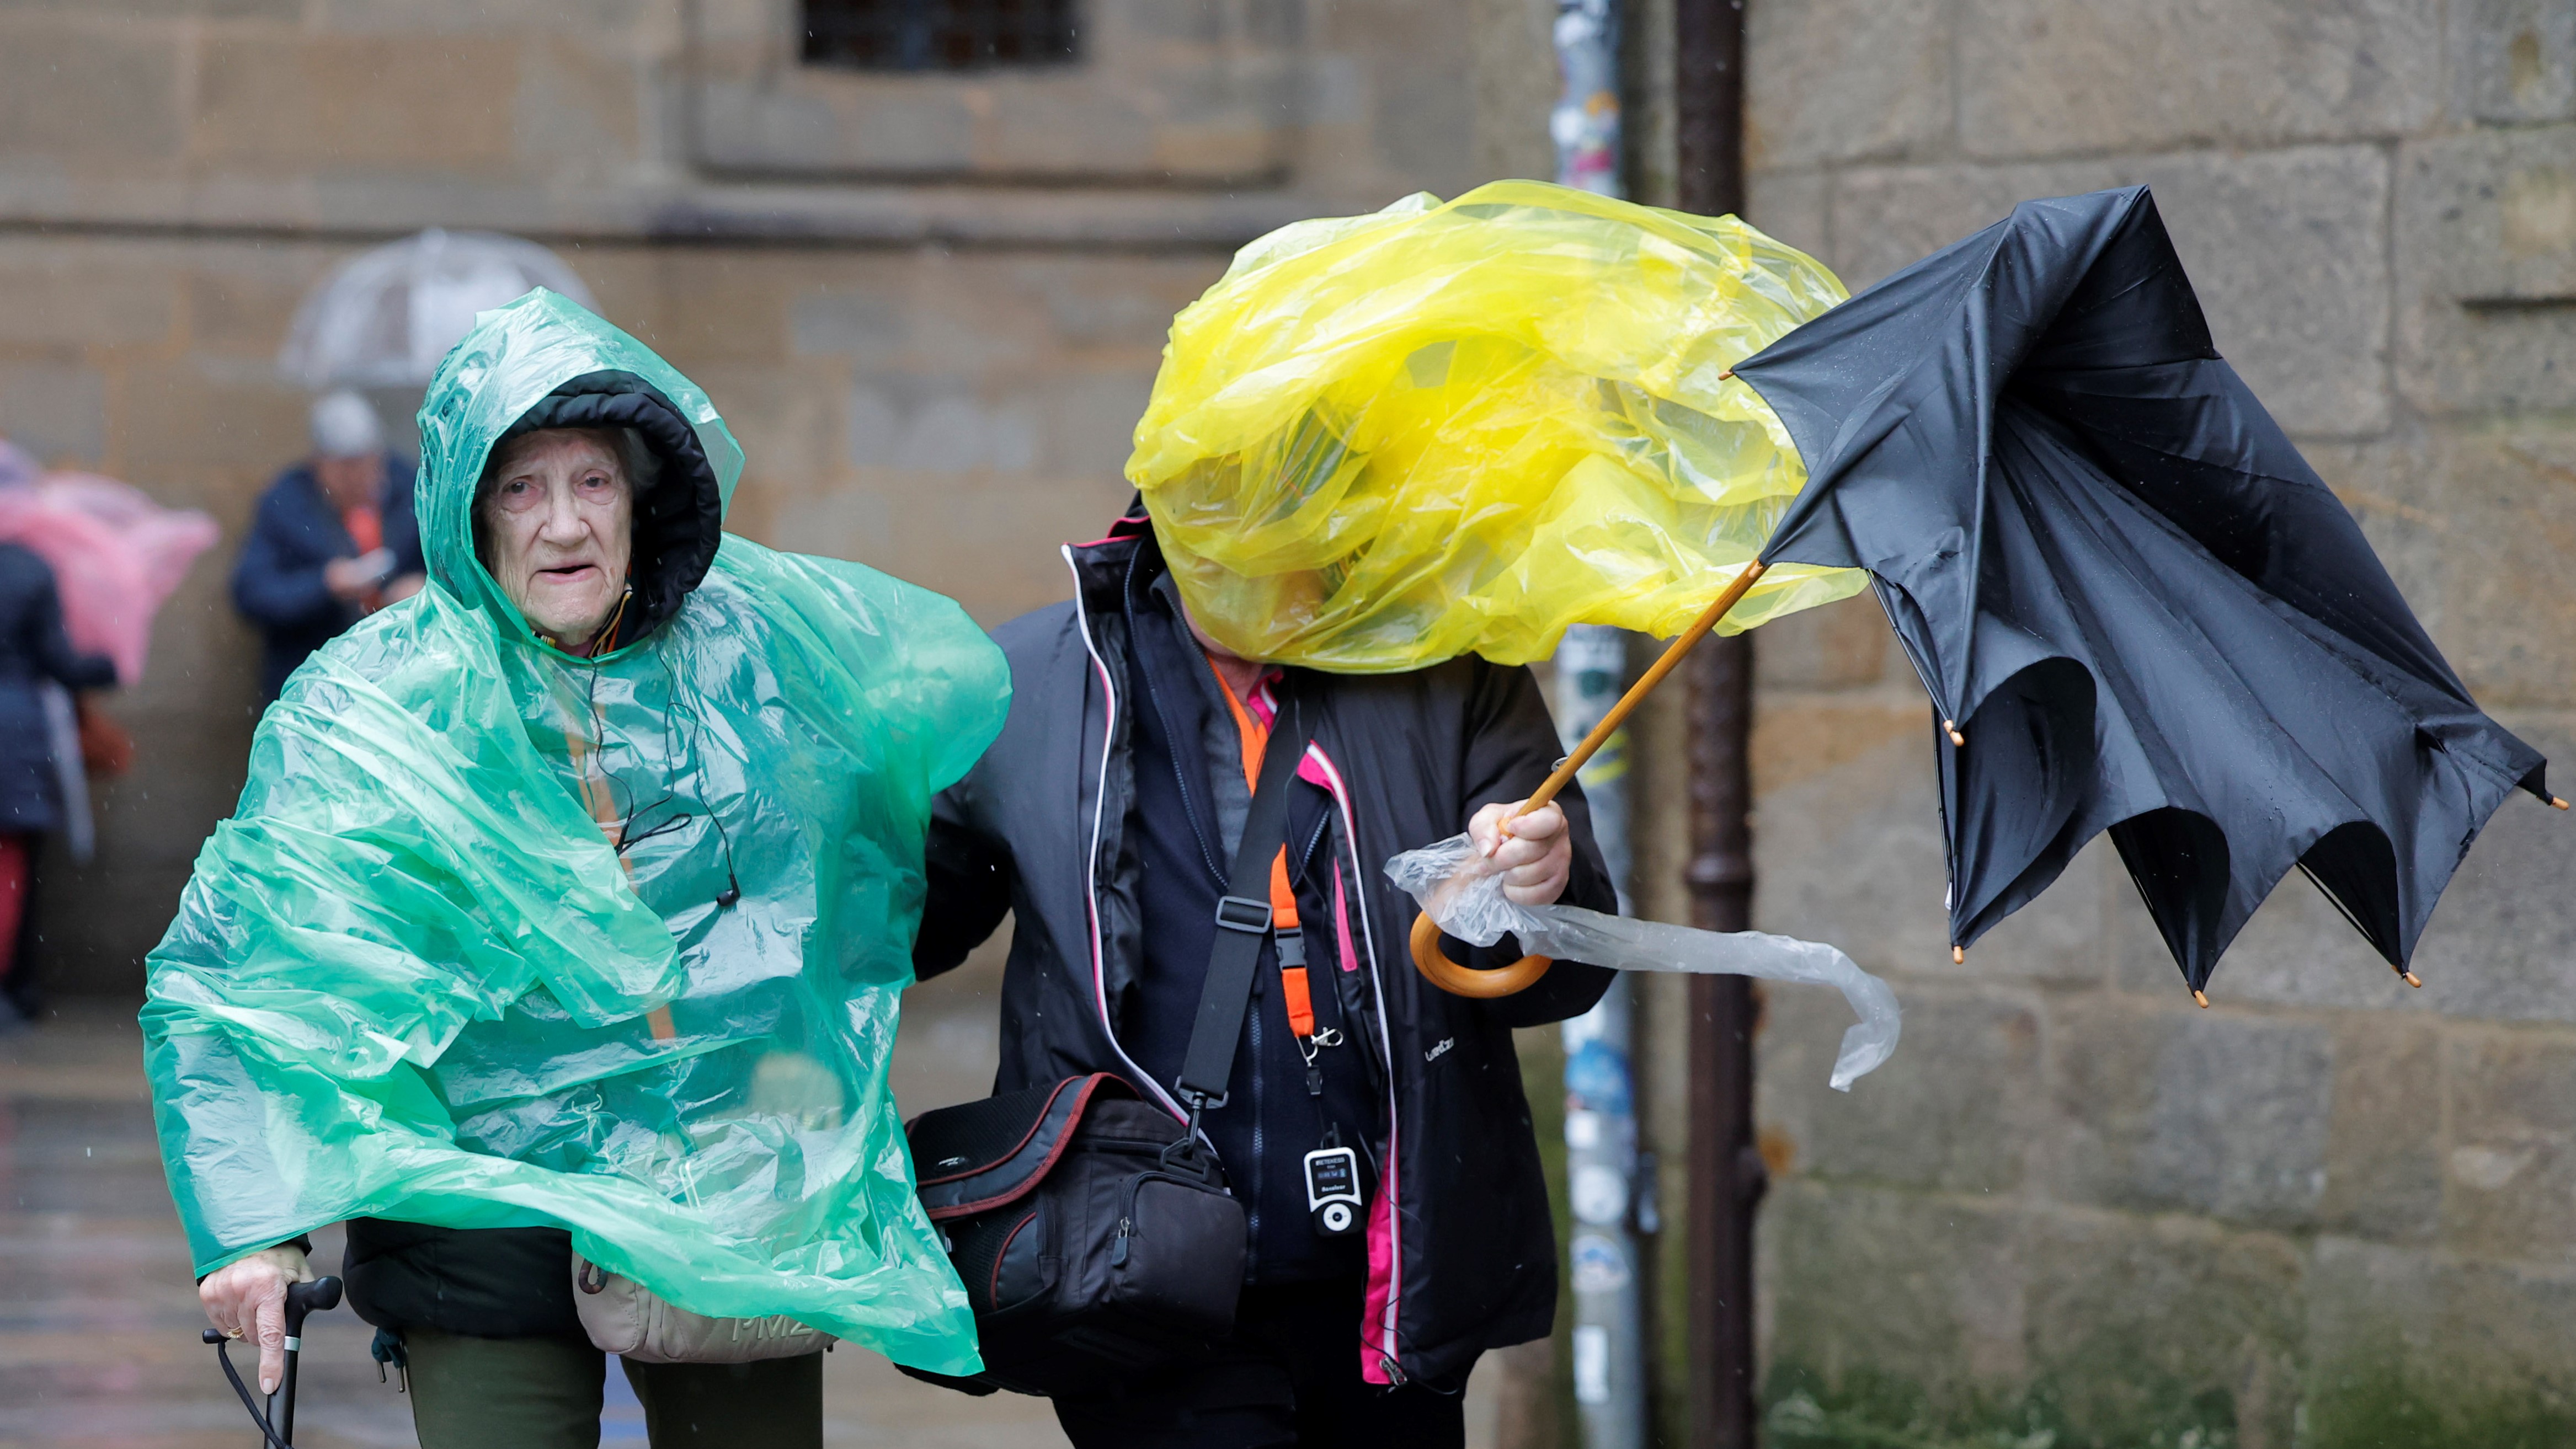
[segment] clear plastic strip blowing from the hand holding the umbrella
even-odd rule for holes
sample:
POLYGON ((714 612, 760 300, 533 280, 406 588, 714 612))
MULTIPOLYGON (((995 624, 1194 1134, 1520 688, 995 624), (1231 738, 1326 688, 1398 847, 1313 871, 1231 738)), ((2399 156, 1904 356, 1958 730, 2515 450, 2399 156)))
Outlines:
POLYGON ((1419 901, 1443 932, 1481 947, 1510 934, 1520 939, 1525 952, 1613 970, 1759 975, 1762 981, 1832 986, 1860 1017, 1842 1032, 1834 1091, 1850 1091, 1855 1081, 1896 1053, 1896 993, 1829 945, 1770 932, 1695 932, 1667 921, 1605 916, 1579 906, 1515 906, 1502 893, 1502 872, 1463 834, 1388 860, 1386 875, 1419 901))

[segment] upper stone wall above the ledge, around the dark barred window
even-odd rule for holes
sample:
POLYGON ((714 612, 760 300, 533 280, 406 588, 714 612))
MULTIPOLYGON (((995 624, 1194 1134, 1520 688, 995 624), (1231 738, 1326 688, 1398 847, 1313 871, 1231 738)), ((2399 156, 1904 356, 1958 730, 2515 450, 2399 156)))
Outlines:
POLYGON ((796 0, 5 0, 0 224, 1231 250, 1473 178, 1455 10, 1082 0, 1072 64, 891 75, 796 0))

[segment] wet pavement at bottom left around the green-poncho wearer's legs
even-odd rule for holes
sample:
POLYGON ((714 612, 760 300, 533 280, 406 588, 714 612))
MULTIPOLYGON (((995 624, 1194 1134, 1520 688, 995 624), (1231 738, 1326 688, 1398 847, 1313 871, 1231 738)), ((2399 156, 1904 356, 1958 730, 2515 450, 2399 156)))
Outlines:
MULTIPOLYGON (((914 988, 894 1053, 904 1114, 992 1089, 992 970, 914 988)), ((340 1261, 337 1230, 314 1259, 340 1261)), ((70 1001, 0 1040, 0 1446, 247 1449, 258 1431, 198 1341, 188 1246, 162 1186, 142 1035, 124 1004, 70 1001)), ((299 1449, 410 1446, 407 1400, 376 1380, 348 1307, 304 1328, 299 1449)), ((234 1351, 242 1377, 252 1354, 234 1351)), ((1064 1444, 1043 1400, 966 1398, 876 1354, 824 1356, 824 1444, 1025 1449, 1064 1444)), ((611 1374, 600 1444, 644 1444, 611 1374)))

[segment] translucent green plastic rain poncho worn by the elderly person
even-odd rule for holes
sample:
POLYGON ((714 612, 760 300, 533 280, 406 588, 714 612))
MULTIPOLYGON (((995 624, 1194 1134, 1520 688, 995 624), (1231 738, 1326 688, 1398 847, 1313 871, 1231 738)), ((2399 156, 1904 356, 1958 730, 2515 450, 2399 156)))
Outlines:
POLYGON ((930 795, 1002 726, 999 651, 858 564, 724 535, 706 566, 742 450, 554 293, 479 319, 420 432, 430 587, 294 674, 152 952, 196 1269, 355 1215, 562 1225, 680 1307, 974 1372, 886 1058, 930 795), (636 504, 670 615, 582 661, 482 569, 471 499, 505 427, 603 373, 703 461, 636 504))

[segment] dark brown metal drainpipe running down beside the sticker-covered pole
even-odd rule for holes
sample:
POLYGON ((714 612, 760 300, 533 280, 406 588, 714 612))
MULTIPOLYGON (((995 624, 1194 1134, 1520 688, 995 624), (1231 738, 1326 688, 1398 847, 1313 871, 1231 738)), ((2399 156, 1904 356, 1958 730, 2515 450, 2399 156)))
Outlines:
MULTIPOLYGON (((1674 0, 1682 211, 1744 208, 1744 0, 1674 0)), ((1690 661, 1690 906, 1710 932, 1752 927, 1752 636, 1690 661)), ((1754 1207, 1770 1186, 1754 1145, 1754 1024, 1741 975, 1690 978, 1692 1449, 1754 1449, 1754 1207)))

